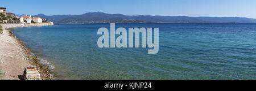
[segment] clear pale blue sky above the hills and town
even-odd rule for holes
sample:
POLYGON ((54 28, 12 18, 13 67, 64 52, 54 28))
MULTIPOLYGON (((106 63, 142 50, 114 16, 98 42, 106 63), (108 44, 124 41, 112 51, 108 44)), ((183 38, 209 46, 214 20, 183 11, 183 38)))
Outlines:
POLYGON ((124 15, 245 17, 256 19, 255 0, 1 0, 15 14, 80 15, 105 12, 124 15))

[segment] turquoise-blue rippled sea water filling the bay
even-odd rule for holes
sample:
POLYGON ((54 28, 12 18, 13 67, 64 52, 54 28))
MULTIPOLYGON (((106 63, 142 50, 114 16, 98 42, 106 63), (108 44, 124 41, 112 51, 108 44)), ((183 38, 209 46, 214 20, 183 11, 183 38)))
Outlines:
POLYGON ((99 48, 97 29, 110 24, 15 28, 14 35, 59 79, 256 79, 256 24, 115 24, 158 27, 159 53, 99 48))

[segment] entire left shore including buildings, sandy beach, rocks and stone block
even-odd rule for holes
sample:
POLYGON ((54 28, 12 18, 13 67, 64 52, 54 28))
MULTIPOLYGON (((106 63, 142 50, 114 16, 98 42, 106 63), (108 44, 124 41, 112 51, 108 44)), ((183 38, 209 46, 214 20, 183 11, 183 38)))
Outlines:
POLYGON ((0 7, 0 80, 54 79, 47 64, 40 63, 13 34, 11 28, 41 27, 53 22, 31 15, 15 15, 0 7))

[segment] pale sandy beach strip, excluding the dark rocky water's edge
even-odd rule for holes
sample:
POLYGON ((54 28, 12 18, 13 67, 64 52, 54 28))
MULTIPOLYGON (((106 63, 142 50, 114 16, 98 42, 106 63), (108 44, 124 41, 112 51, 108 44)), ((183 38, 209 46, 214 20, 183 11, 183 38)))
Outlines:
POLYGON ((9 28, 15 27, 36 27, 53 25, 52 23, 40 24, 0 24, 3 27, 3 34, 0 34, 0 72, 3 80, 21 79, 24 67, 34 66, 30 62, 31 58, 27 56, 26 50, 15 38, 10 36, 9 28))

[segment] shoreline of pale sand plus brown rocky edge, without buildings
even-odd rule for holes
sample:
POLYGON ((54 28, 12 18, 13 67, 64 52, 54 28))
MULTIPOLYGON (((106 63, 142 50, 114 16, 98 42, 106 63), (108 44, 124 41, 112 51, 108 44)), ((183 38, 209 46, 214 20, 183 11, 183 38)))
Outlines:
POLYGON ((40 63, 40 59, 31 52, 24 43, 13 36, 11 28, 16 27, 40 27, 53 25, 53 23, 36 24, 0 24, 3 34, 0 34, 0 72, 3 80, 22 79, 24 67, 34 66, 39 71, 42 80, 55 79, 49 66, 40 63))

